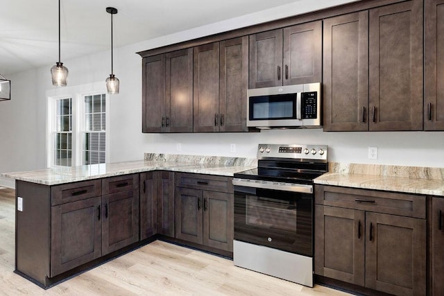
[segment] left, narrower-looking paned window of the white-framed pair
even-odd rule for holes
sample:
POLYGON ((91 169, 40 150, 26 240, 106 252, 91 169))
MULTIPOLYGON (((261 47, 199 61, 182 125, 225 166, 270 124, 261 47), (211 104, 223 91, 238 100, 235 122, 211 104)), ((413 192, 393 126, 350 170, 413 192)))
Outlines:
POLYGON ((56 100, 56 123, 54 164, 56 166, 71 166, 72 98, 56 100))

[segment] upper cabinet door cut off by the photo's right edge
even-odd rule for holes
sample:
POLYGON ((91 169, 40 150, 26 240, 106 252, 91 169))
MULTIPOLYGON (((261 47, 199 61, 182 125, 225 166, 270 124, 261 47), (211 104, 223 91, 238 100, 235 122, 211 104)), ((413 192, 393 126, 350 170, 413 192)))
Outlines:
POLYGON ((425 5, 424 130, 444 130, 444 1, 425 5))

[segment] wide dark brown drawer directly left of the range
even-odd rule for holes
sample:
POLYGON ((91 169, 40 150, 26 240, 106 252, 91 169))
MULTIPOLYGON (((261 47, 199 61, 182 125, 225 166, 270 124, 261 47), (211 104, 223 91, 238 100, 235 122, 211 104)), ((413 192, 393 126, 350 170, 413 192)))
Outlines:
POLYGON ((176 186, 219 192, 233 192, 232 177, 176 173, 176 186))

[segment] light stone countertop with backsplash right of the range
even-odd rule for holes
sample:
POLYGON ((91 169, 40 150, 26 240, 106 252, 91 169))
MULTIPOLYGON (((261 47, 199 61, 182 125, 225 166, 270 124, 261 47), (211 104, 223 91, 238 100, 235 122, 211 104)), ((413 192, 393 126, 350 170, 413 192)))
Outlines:
POLYGON ((444 196, 444 168, 329 164, 315 184, 444 196))

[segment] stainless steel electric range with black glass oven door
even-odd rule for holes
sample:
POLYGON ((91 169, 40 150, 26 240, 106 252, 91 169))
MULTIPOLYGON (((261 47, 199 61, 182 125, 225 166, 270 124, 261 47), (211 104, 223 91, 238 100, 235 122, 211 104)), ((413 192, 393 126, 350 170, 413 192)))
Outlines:
POLYGON ((323 145, 259 144, 258 166, 234 174, 234 265, 313 286, 313 180, 323 145))

